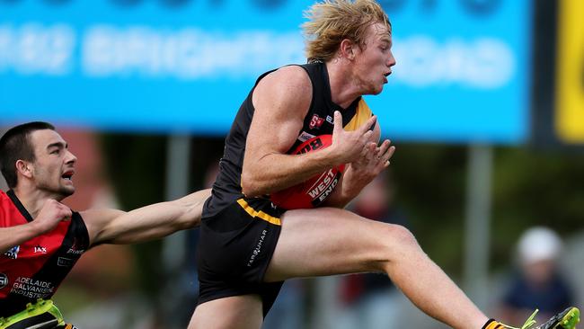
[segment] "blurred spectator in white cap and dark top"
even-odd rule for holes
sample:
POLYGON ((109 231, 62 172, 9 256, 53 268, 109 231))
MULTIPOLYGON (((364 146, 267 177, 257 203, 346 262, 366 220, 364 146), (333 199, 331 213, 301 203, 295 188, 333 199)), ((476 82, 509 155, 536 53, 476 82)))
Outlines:
POLYGON ((562 278, 558 260, 562 240, 547 227, 532 227, 520 237, 517 246, 518 272, 502 300, 501 320, 520 323, 535 308, 538 322, 571 306, 570 285, 562 278))

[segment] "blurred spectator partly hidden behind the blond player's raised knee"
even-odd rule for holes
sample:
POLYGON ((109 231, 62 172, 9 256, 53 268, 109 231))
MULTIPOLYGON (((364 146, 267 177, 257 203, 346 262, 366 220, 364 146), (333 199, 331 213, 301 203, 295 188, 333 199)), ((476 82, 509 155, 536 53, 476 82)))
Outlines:
MULTIPOLYGON (((406 225, 403 213, 394 207, 394 184, 386 171, 370 182, 351 205, 365 218, 406 225)), ((340 329, 376 329, 397 327, 400 293, 385 274, 351 274, 341 277, 342 312, 340 329)))

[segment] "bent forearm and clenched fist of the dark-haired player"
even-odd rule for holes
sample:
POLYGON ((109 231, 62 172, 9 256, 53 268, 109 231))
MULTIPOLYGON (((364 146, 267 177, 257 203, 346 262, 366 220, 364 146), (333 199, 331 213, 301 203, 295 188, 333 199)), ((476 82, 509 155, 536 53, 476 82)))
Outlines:
POLYGON ((15 245, 52 231, 62 220, 71 218, 71 209, 57 200, 47 200, 40 209, 39 216, 30 223, 16 227, 0 228, 0 253, 5 253, 15 245))

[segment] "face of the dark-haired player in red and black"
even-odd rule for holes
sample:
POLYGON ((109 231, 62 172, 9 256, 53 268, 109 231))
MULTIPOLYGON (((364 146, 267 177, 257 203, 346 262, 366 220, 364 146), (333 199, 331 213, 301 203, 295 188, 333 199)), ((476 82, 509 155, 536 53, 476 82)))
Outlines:
POLYGON ((40 191, 65 198, 75 192, 71 180, 77 158, 69 152, 63 138, 54 130, 43 129, 31 133, 35 161, 33 178, 40 191))

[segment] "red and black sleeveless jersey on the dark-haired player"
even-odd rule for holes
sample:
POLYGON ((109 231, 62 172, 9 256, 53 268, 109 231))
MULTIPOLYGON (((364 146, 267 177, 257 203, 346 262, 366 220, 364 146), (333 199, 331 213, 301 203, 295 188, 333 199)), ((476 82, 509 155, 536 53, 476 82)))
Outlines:
MULTIPOLYGON (((13 191, 0 191, 0 227, 31 220, 13 191)), ((70 221, 59 222, 51 232, 0 254, 0 316, 18 313, 37 298, 51 298, 88 247, 83 218, 73 212, 70 221)))

